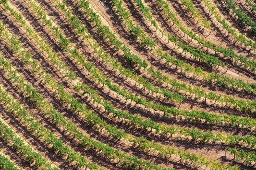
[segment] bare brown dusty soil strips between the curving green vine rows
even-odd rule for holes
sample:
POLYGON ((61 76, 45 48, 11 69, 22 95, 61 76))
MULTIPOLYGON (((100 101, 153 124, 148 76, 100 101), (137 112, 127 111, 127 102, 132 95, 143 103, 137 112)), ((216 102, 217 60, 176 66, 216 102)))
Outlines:
MULTIPOLYGON (((74 0, 67 1, 67 5, 74 11, 73 14, 76 14, 78 18, 82 21, 83 24, 85 24, 85 27, 88 29, 87 33, 91 34, 92 37, 98 42, 98 44, 105 50, 106 53, 108 53, 110 56, 118 59, 123 67, 129 68, 134 70, 134 73, 136 73, 138 76, 147 78, 149 82, 152 84, 163 88, 162 84, 157 83, 155 80, 150 79, 149 76, 145 72, 139 72, 135 68, 128 66, 126 62, 123 61, 122 55, 119 55, 116 50, 111 47, 110 45, 106 44, 104 40, 102 40, 99 35, 96 33, 95 28, 92 26, 92 24, 85 19, 84 14, 82 14, 81 11, 78 11, 74 6, 74 0)), ((39 1, 38 1, 39 2, 39 1)), ((180 82, 183 82, 185 84, 198 86, 201 89, 204 89, 207 92, 214 92, 219 95, 230 95, 234 97, 235 99, 240 100, 250 100, 254 101, 255 96, 251 94, 247 94, 245 92, 240 91, 232 91, 232 90, 224 90, 221 87, 216 87, 214 84, 206 84, 201 80, 198 79, 192 79, 189 76, 183 76, 181 75, 177 70, 170 68, 169 66, 161 63, 159 59, 148 49, 141 45, 139 45, 139 42, 134 41, 134 37, 129 33, 129 30, 124 26, 123 22, 118 20, 117 15, 114 13, 111 4, 107 3, 104 0, 89 0, 91 6, 93 7, 94 11, 97 11, 100 15, 100 18, 103 21, 103 24, 109 26, 110 30, 119 38, 122 42, 129 45, 129 48, 131 49, 132 53, 138 55, 142 59, 145 59, 149 66, 154 67, 155 69, 160 70, 164 75, 170 76, 172 79, 178 79, 180 82)), ((190 14, 182 9, 182 6, 177 1, 171 1, 168 0, 170 4, 170 8, 175 11, 177 14, 177 17, 180 19, 180 21, 188 27, 189 29, 193 30, 195 33, 197 33, 200 37, 205 38, 207 41, 211 41, 212 43, 216 45, 222 45, 223 47, 229 47, 232 48, 236 53, 243 54, 246 57, 255 57, 255 53, 251 50, 244 50, 243 47, 240 47, 240 45, 237 45, 229 36, 226 36, 223 32, 220 31, 220 28, 216 28, 213 31, 209 31, 206 29, 202 29, 201 26, 196 25, 194 20, 190 18, 190 14)), ((216 1, 215 1, 216 2, 216 1)), ((145 120, 153 120, 157 123, 174 127, 183 127, 187 129, 193 129, 196 128, 198 130, 202 130, 204 132, 212 131, 214 134, 222 133, 223 135, 255 135, 255 132, 248 129, 242 129, 240 127, 230 127, 230 126, 222 126, 222 125, 216 125, 216 126, 208 126, 203 123, 192 123, 190 121, 186 120, 178 120, 175 118, 164 118, 159 117, 156 114, 149 114, 145 113, 142 110, 132 107, 128 102, 123 103, 121 102, 121 97, 114 97, 110 95, 109 93, 106 93, 103 91, 102 88, 99 88, 95 85, 95 82, 90 80, 83 71, 81 71, 75 64, 73 64, 72 60, 69 58, 69 55, 67 53, 61 52, 61 47, 58 45, 58 43, 55 41, 55 37, 49 32, 49 29, 46 25, 42 23, 42 21, 38 20, 33 14, 33 12, 30 10, 30 6, 23 0, 12 0, 11 3, 13 6, 15 6, 26 18, 26 20, 33 26, 33 28, 45 39, 47 43, 52 47, 52 50, 55 51, 59 56, 61 56, 62 60, 65 61, 65 63, 68 65, 68 68, 72 71, 74 71, 77 74, 77 77, 82 83, 85 83, 86 85, 90 86, 91 88, 94 88, 95 91, 98 92, 100 96, 103 97, 103 99, 108 100, 110 103, 112 103, 116 109, 123 110, 130 112, 132 114, 139 114, 141 117, 143 117, 145 120)), ((141 90, 140 88, 134 86, 130 81, 126 81, 125 79, 122 79, 121 77, 118 77, 116 73, 108 66, 104 65, 103 62, 97 59, 93 55, 93 49, 89 48, 85 43, 79 40, 79 35, 76 35, 75 31, 69 28, 68 23, 65 21, 65 18, 63 16, 63 12, 60 11, 60 9, 57 9, 50 0, 43 0, 39 2, 44 8, 47 14, 53 18, 53 21, 61 27, 62 32, 64 35, 72 42, 73 45, 77 47, 77 49, 86 57, 86 59, 94 64, 96 68, 101 70, 103 74, 110 78, 111 81, 115 84, 118 84, 120 88, 125 89, 126 91, 129 91, 133 93, 134 95, 137 95, 139 97, 144 98, 145 100, 152 101, 153 103, 158 103, 162 105, 166 105, 169 107, 175 107, 179 109, 184 110, 203 110, 210 113, 225 113, 225 114, 235 114, 239 116, 252 116, 256 117, 254 113, 241 113, 234 109, 226 108, 226 107, 217 107, 214 104, 207 104, 195 101, 190 98, 186 98, 181 104, 176 102, 168 102, 168 101, 161 101, 158 98, 155 98, 154 95, 147 94, 145 91, 141 90)), ((195 4, 195 7, 200 13, 202 14, 203 18, 207 18, 211 21, 210 16, 204 11, 204 9, 200 6, 200 4, 196 3, 195 0, 193 0, 193 3, 195 4)), ((166 44, 164 38, 162 38, 161 34, 158 34, 155 29, 152 27, 149 27, 148 22, 144 19, 143 15, 137 10, 135 7, 135 3, 132 1, 124 0, 123 4, 131 11, 133 21, 136 25, 140 26, 145 33, 152 38, 153 40, 156 40, 157 45, 164 51, 167 51, 171 56, 180 58, 182 60, 185 60, 186 62, 190 63, 194 67, 201 67, 207 72, 215 72, 223 74, 229 78, 236 78, 236 79, 242 79, 245 82, 249 81, 250 83, 256 83, 256 75, 255 73, 252 73, 250 71, 247 71, 243 68, 235 67, 232 63, 228 62, 228 60, 222 59, 222 61, 228 66, 228 70, 224 69, 211 69, 208 68, 207 65, 202 64, 198 61, 190 60, 187 58, 184 58, 183 54, 180 54, 177 50, 172 50, 171 44, 166 44)), ((189 42, 188 38, 184 38, 182 35, 183 33, 177 33, 174 30, 174 27, 170 26, 169 21, 166 21, 164 17, 162 16, 163 13, 159 9, 157 9, 155 1, 145 0, 145 4, 151 8, 153 12, 153 17, 156 19, 158 26, 161 29, 165 29, 168 33, 172 35, 178 36, 178 41, 184 40, 185 42, 189 42)), ((216 2, 218 6, 221 6, 222 4, 219 4, 216 2)), ((242 7, 242 6, 241 6, 242 7)), ((221 6, 222 9, 222 6, 221 6)), ((227 13, 225 10, 221 10, 223 12, 223 16, 228 19, 227 13)), ((120 120, 117 120, 115 118, 110 118, 106 115, 104 112, 100 112, 98 109, 96 109, 93 104, 85 101, 83 97, 77 93, 73 89, 72 83, 67 83, 63 81, 61 73, 52 66, 49 61, 45 60, 45 56, 43 53, 40 53, 40 49, 37 45, 35 45, 35 42, 33 40, 30 40, 26 33, 24 33, 24 30, 22 30, 22 27, 16 23, 12 16, 7 16, 7 14, 3 11, 0 12, 0 21, 4 23, 9 31, 14 34, 22 43, 22 45, 25 47, 25 49, 33 55, 33 58, 36 59, 39 64, 47 70, 47 72, 57 80, 59 84, 62 84, 64 86, 64 89, 72 94, 79 102, 82 102, 85 107, 89 108, 92 113, 95 113, 98 115, 98 117, 104 119, 108 124, 116 126, 118 129, 122 129, 123 132, 129 133, 132 136, 137 137, 144 137, 149 141, 154 141, 158 144, 162 144, 164 146, 170 145, 171 147, 177 147, 181 148, 182 150, 188 150, 191 153, 195 153, 196 155, 203 154, 204 157, 207 159, 218 159, 221 163, 225 165, 234 165, 238 164, 241 169, 250 169, 252 167, 246 166, 243 164, 243 161, 235 161, 233 159, 233 156, 230 155, 228 152, 227 157, 224 157, 225 153, 225 146, 224 144, 216 144, 216 143, 201 143, 201 142, 195 142, 195 141, 187 141, 184 139, 181 139, 179 137, 163 137, 161 135, 155 134, 153 132, 145 132, 142 129, 134 128, 128 125, 124 125, 120 120)), ((235 21, 230 20, 230 23, 235 23, 235 21)), ((212 27, 216 27, 216 24, 212 24, 212 27)), ((239 29, 241 32, 242 30, 237 27, 237 25, 233 25, 237 29, 239 29)), ((248 36, 248 38, 252 38, 251 36, 248 36)), ((123 152, 126 152, 127 155, 132 154, 134 156, 137 156, 139 159, 145 159, 152 163, 155 163, 157 165, 161 165, 168 168, 175 168, 175 169, 191 169, 195 168, 192 165, 185 164, 183 161, 179 160, 178 158, 174 159, 165 159, 157 156, 156 154, 152 152, 142 152, 134 147, 130 147, 126 145, 125 143, 122 143, 121 141, 112 140, 107 136, 106 134, 99 133, 98 131, 94 130, 91 126, 89 126, 85 121, 78 118, 78 116, 74 115, 71 111, 68 110, 68 108, 64 107, 63 104, 60 102, 60 100, 54 95, 53 92, 50 92, 47 87, 45 87, 40 80, 35 78, 31 74, 28 68, 24 66, 24 63, 17 58, 15 58, 15 54, 10 52, 10 49, 2 45, 3 42, 0 42, 0 50, 5 54, 5 57, 9 59, 12 62, 12 65, 17 71, 24 77, 24 79, 32 85, 33 88, 37 90, 38 93, 40 93, 43 98, 49 102, 52 103, 54 108, 63 114, 68 120, 72 121, 74 125, 77 125, 78 129, 83 132, 86 136, 90 136, 92 139, 109 144, 110 147, 113 147, 115 149, 120 149, 123 152)), ((189 45, 197 47, 196 43, 192 42, 189 45)), ((113 162, 110 162, 106 160, 105 158, 101 157, 97 151, 93 149, 88 149, 80 146, 77 142, 74 141, 73 138, 68 136, 63 132, 61 127, 58 127, 56 125, 53 125, 50 123, 49 118, 46 118, 42 113, 38 111, 35 105, 31 104, 26 97, 16 91, 16 87, 14 87, 8 79, 5 78, 3 73, 0 73, 0 84, 3 85, 3 87, 8 91, 9 94, 11 94, 17 101, 19 101, 24 108, 26 108, 32 116, 34 116, 38 122, 41 123, 41 125, 47 127, 50 129, 54 135, 58 136, 63 140, 63 142, 71 147, 74 151, 80 153, 81 155, 84 155, 89 161, 94 162, 98 165, 100 165, 103 169, 124 169, 120 165, 116 167, 117 165, 113 162)), ((49 147, 45 146, 40 140, 37 140, 36 137, 31 135, 23 125, 21 125, 14 117, 12 117, 6 110, 0 106, 1 111, 1 117, 8 122, 13 130, 19 134, 24 136, 28 143, 34 147, 37 151, 40 153, 43 153, 44 156, 49 159, 52 162, 56 162, 56 165, 58 165, 61 169, 74 169, 74 165, 69 164, 67 161, 62 159, 61 157, 57 156, 55 153, 53 153, 49 147)), ((29 165, 29 163, 24 162, 24 159, 19 158, 18 153, 16 153, 14 150, 12 150, 10 147, 7 147, 5 144, 5 141, 0 139, 0 148, 2 151, 9 155, 12 159, 15 160, 15 163, 23 168, 23 169, 33 169, 29 165)), ((243 149, 249 150, 246 147, 242 147, 243 149)), ((252 149, 255 150, 255 149, 252 149)), ((199 168, 201 169, 201 167, 199 168)))

